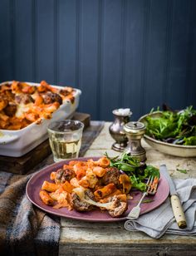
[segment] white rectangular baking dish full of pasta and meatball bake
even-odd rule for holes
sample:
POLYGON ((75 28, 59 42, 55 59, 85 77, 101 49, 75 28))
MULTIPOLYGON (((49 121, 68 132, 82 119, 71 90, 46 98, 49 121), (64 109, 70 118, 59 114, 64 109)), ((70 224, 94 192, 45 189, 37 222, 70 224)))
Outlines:
POLYGON ((0 155, 22 156, 46 140, 51 121, 71 118, 81 90, 5 81, 0 84, 0 155))

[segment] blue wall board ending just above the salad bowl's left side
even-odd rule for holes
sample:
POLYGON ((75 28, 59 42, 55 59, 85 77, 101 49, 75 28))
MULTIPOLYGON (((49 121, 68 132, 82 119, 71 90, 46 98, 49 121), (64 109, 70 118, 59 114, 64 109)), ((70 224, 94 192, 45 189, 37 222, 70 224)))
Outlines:
MULTIPOLYGON (((163 81, 164 81, 164 58, 165 37, 167 29, 167 1, 152 1, 149 12, 149 33, 147 37, 147 52, 145 66, 145 81, 143 90, 144 104, 143 113, 151 108, 162 106, 163 81)), ((147 36, 147 35, 146 35, 147 36)))

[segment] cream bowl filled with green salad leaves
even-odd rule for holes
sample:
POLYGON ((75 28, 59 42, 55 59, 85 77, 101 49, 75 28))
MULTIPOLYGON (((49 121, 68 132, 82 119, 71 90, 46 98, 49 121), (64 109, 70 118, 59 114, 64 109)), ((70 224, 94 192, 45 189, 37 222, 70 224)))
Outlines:
POLYGON ((179 157, 196 157, 196 110, 151 111, 140 117, 145 141, 155 150, 179 157))

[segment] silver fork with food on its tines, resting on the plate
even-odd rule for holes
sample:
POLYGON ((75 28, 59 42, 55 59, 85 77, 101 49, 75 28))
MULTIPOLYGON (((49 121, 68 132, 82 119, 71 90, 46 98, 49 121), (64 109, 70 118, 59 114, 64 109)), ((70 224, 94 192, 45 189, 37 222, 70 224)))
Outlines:
POLYGON ((142 194, 142 197, 139 203, 133 209, 130 210, 130 213, 126 216, 126 219, 138 219, 138 217, 140 216, 140 209, 141 209, 140 204, 142 203, 143 199, 147 194, 156 193, 158 181, 159 181, 158 177, 149 176, 149 179, 147 180, 147 183, 146 183, 145 193, 142 194))

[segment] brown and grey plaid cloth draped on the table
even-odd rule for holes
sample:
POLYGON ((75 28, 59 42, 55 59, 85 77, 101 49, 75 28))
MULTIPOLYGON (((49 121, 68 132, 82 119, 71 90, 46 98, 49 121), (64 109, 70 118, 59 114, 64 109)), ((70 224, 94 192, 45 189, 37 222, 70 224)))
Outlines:
MULTIPOLYGON (((91 121, 83 133, 80 156, 103 126, 103 121, 91 121)), ((31 176, 0 171, 0 255, 58 255, 60 218, 42 212, 27 199, 31 176)))

